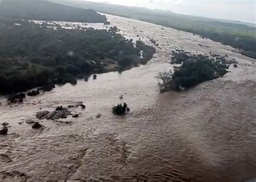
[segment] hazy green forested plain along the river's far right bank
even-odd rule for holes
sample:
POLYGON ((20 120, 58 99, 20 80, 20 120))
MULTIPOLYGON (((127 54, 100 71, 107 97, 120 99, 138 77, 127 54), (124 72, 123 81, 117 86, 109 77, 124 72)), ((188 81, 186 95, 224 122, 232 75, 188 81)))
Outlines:
POLYGON ((149 10, 113 4, 100 4, 92 2, 52 0, 80 8, 91 8, 99 12, 168 26, 177 30, 191 32, 210 38, 213 41, 233 46, 241 50, 245 56, 256 59, 256 27, 247 26, 246 23, 219 21, 216 19, 194 17, 174 14, 171 11, 149 10))

